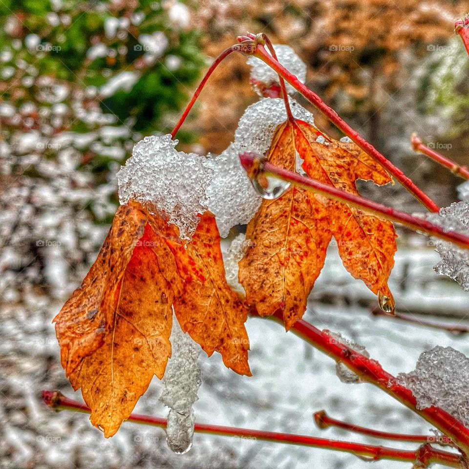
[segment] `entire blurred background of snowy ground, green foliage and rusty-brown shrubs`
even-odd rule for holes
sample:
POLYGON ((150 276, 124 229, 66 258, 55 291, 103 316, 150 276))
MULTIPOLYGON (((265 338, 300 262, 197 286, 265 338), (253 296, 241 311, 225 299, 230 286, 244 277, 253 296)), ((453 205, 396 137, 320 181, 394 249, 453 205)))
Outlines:
MULTIPOLYGON (((453 32, 468 10, 458 0, 1 0, 0 468, 365 467, 350 455, 210 435, 174 455, 163 430, 133 424, 105 440, 86 416, 42 404, 41 389, 74 394, 51 320, 101 247, 118 204, 115 174, 133 145, 171 131, 213 58, 246 31, 293 47, 308 66, 306 84, 328 105, 439 205, 457 200, 462 180, 409 142, 416 131, 469 164, 469 60, 453 32)), ((258 99, 249 71, 241 55, 217 69, 178 133, 180 149, 207 154, 229 145, 258 99)), ((297 98, 321 130, 341 137, 297 98)), ((398 186, 361 189, 420 210, 398 186)), ((400 235, 390 284, 398 309, 463 321, 467 294, 433 272, 432 246, 400 235)), ((413 369, 436 344, 468 354, 465 337, 373 318, 374 301, 331 246, 307 319, 363 343, 392 373, 413 369)), ((313 412, 326 408, 360 425, 428 432, 371 386, 341 383, 334 363, 276 324, 250 320, 248 332, 253 378, 226 370, 219 356, 201 359, 198 421, 349 439, 314 427, 313 412)), ((137 411, 166 415, 157 381, 137 411)))

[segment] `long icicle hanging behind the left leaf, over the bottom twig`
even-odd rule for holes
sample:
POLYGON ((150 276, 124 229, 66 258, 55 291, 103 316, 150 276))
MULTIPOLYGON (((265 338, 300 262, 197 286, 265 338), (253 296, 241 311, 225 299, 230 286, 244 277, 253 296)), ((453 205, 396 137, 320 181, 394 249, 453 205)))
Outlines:
POLYGON ((176 317, 171 331, 171 359, 163 377, 160 401, 170 407, 166 428, 168 447, 175 453, 191 449, 195 416, 192 405, 202 383, 198 357, 200 347, 182 332, 176 317))

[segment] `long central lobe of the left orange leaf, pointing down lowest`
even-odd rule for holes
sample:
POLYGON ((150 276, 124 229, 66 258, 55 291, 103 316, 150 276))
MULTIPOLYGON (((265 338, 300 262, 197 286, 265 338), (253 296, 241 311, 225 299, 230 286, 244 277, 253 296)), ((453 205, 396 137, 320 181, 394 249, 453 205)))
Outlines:
POLYGON ((171 286, 153 251, 155 238, 147 225, 116 292, 110 332, 70 375, 91 408, 91 422, 106 437, 128 418, 153 374, 163 377, 171 356, 171 286))

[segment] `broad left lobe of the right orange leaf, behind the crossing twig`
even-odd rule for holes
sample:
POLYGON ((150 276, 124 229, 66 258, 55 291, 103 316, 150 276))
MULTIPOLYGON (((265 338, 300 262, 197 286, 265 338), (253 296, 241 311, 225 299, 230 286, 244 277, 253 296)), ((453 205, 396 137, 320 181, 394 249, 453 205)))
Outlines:
MULTIPOLYGON (((296 158, 294 129, 282 124, 269 161, 295 171, 296 158)), ((239 282, 260 316, 280 311, 286 329, 301 318, 331 239, 327 223, 326 207, 303 189, 294 187, 276 200, 262 201, 246 233, 251 246, 239 262, 239 282)))

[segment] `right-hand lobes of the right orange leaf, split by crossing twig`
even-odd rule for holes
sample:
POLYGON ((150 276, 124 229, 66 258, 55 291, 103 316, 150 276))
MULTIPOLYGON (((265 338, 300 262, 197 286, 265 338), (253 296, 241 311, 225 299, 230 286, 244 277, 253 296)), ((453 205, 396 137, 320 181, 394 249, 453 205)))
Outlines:
MULTIPOLYGON (((295 128, 297 150, 310 177, 316 178, 318 168, 322 168, 329 175, 329 184, 356 195, 359 195, 357 179, 372 179, 376 184, 390 182, 386 171, 362 152, 357 159, 356 146, 347 148, 334 141, 328 145, 318 143, 315 128, 301 121, 295 128)), ((392 223, 341 202, 330 204, 329 215, 329 230, 337 241, 344 267, 353 277, 362 279, 373 293, 381 292, 389 298, 387 307, 393 309, 394 301, 387 286, 397 249, 392 223)))

